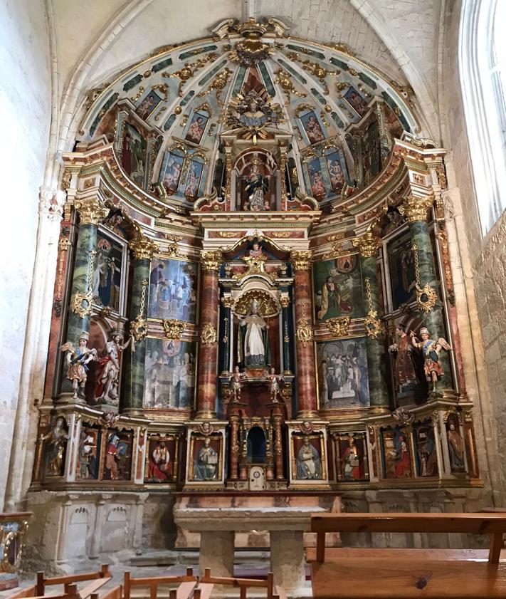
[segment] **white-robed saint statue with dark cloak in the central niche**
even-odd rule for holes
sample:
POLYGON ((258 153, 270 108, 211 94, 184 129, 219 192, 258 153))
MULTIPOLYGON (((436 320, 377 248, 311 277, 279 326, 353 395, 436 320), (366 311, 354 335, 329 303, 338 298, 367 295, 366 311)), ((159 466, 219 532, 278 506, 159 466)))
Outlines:
POLYGON ((267 325, 258 313, 258 307, 258 301, 254 299, 248 314, 239 321, 237 359, 246 368, 270 365, 267 325))

